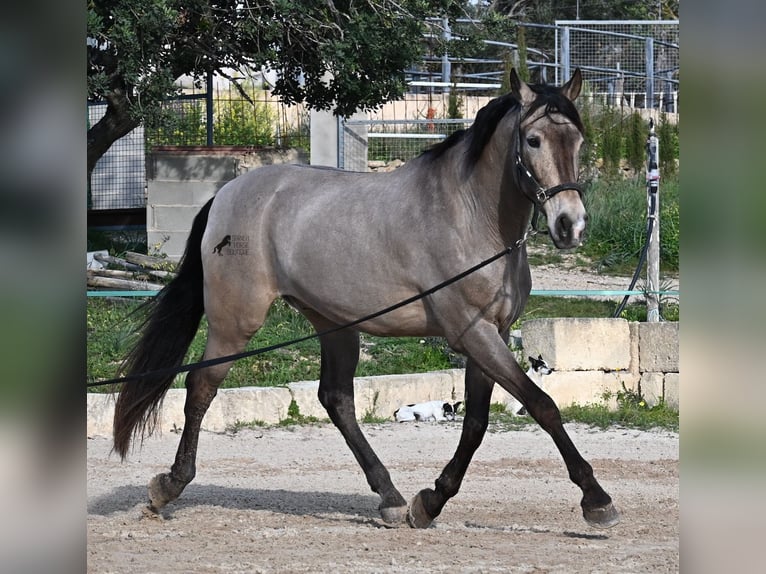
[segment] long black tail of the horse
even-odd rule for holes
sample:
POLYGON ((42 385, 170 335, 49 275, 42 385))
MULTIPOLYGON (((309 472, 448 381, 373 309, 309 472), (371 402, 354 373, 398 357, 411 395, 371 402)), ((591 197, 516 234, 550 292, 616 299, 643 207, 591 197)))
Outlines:
MULTIPOLYGON (((194 218, 176 277, 142 306, 141 337, 120 367, 123 376, 179 367, 199 329, 204 312, 202 235, 213 200, 194 218)), ((162 399, 175 374, 147 375, 126 381, 114 409, 114 449, 124 459, 131 440, 151 435, 162 399)))

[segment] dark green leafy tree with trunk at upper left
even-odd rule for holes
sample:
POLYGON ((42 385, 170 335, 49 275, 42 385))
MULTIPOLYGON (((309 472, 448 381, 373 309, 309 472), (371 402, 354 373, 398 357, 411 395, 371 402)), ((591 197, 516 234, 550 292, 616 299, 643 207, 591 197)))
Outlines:
POLYGON ((400 96, 425 18, 464 0, 89 0, 88 175, 117 139, 157 123, 182 75, 267 68, 287 103, 350 115, 400 96))

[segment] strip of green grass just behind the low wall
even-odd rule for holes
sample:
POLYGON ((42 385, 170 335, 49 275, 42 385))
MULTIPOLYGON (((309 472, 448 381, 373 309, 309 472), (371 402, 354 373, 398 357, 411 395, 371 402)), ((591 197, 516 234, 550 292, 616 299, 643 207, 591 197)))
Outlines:
MULTIPOLYGON (((139 302, 123 299, 91 298, 87 306, 87 361, 89 380, 116 376, 117 368, 136 340, 140 317, 133 313, 139 302)), ((527 319, 544 317, 611 317, 616 303, 593 299, 530 297, 516 328, 527 319)), ((637 320, 646 315, 643 305, 628 305, 623 316, 637 320)), ((663 309, 663 316, 678 316, 678 306, 663 309)), ((202 325, 189 347, 186 362, 199 360, 205 347, 207 323, 202 325)), ((306 319, 283 301, 277 301, 264 326, 247 349, 257 349, 313 333, 306 319)), ((362 335, 362 359, 358 376, 423 373, 462 366, 462 357, 438 337, 383 338, 362 335)), ((234 363, 223 388, 244 386, 284 386, 302 380, 319 379, 320 354, 316 339, 285 349, 241 359, 234 363)), ((183 386, 179 376, 176 387, 183 386)), ((95 387, 94 390, 109 389, 95 387)))

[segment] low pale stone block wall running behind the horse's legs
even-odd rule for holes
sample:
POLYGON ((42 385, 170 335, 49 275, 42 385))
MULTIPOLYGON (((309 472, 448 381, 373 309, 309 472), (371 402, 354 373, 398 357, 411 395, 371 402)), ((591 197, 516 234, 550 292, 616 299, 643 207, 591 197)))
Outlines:
MULTIPOLYGON (((541 354, 555 369, 543 377, 542 388, 560 407, 573 403, 602 403, 605 391, 640 391, 651 406, 664 400, 678 408, 678 323, 629 323, 624 319, 534 319, 521 328, 523 353, 541 354)), ((358 418, 392 418, 408 403, 463 400, 463 369, 431 373, 358 377, 355 404, 358 418)), ((304 416, 327 418, 317 399, 319 383, 302 381, 287 387, 221 389, 202 427, 222 432, 237 422, 275 424, 287 418, 291 401, 304 416)), ((183 428, 186 391, 171 389, 162 407, 163 431, 183 428)), ((88 394, 88 435, 110 436, 114 397, 88 394)), ((492 402, 506 403, 510 395, 495 386, 492 402)))

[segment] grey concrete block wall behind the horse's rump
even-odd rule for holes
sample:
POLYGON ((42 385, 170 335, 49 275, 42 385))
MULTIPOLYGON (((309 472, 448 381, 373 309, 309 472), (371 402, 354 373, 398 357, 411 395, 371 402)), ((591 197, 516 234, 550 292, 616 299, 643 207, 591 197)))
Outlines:
POLYGON ((159 148, 147 158, 146 235, 150 249, 179 259, 192 220, 223 185, 247 171, 306 163, 294 149, 159 148))

